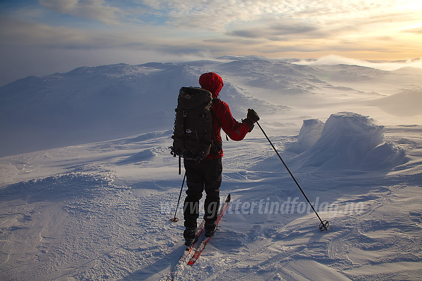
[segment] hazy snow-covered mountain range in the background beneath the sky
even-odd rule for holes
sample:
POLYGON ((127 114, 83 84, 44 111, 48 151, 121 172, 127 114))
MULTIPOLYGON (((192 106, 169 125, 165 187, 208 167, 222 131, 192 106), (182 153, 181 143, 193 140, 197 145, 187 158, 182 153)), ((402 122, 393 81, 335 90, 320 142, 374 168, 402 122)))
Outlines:
MULTIPOLYGON (((349 105, 345 109, 337 106, 350 98, 388 109, 396 104, 393 99, 377 103, 375 98, 405 89, 420 97, 422 80, 417 71, 317 67, 262 57, 116 64, 30 76, 0 88, 0 156, 171 129, 178 90, 198 86, 199 75, 206 71, 223 77, 221 99, 231 105, 236 118, 243 118, 248 107, 261 114, 292 110, 297 118, 288 123, 294 130, 300 128, 301 116, 325 119, 331 113, 350 111, 349 105), (315 112, 320 108, 315 105, 326 101, 335 103, 334 109, 315 112)), ((401 109, 412 105, 417 114, 418 102, 420 98, 417 103, 409 100, 401 109)), ((406 115, 407 111, 401 112, 406 115)))

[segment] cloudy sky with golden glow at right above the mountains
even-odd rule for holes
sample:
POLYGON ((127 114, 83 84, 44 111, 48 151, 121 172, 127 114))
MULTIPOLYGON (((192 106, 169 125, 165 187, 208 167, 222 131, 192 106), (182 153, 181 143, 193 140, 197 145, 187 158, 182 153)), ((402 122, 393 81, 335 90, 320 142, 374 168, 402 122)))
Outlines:
POLYGON ((224 55, 417 66, 421 14, 422 0, 0 0, 0 86, 82 65, 224 55))

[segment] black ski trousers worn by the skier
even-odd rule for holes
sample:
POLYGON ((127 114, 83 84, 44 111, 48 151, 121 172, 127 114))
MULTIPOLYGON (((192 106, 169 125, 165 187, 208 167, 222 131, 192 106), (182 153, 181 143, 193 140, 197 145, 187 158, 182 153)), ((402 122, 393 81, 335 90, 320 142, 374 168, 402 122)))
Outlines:
POLYGON ((221 158, 203 159, 199 164, 195 160, 184 160, 186 170, 186 199, 183 216, 186 228, 195 228, 199 217, 199 201, 205 190, 204 219, 207 224, 215 223, 220 205, 221 158))

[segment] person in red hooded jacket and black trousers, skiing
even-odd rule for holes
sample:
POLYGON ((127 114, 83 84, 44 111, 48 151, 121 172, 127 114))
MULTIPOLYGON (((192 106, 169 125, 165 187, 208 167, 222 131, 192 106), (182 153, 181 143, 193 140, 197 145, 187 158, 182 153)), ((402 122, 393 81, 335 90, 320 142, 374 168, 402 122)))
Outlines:
POLYGON ((219 92, 224 86, 223 79, 214 72, 204 73, 199 78, 201 88, 208 90, 212 94, 212 131, 213 145, 210 154, 199 164, 196 160, 184 159, 186 170, 186 199, 183 205, 183 216, 185 219, 185 245, 190 246, 194 243, 197 219, 199 218, 199 200, 202 198, 205 189, 206 198, 204 202, 205 209, 205 236, 211 236, 216 229, 216 219, 220 204, 220 185, 223 157, 222 142, 220 130, 223 131, 235 141, 243 140, 248 132, 251 132, 254 123, 259 120, 258 114, 248 109, 246 119, 242 122, 236 121, 230 112, 228 105, 218 99, 219 92))

